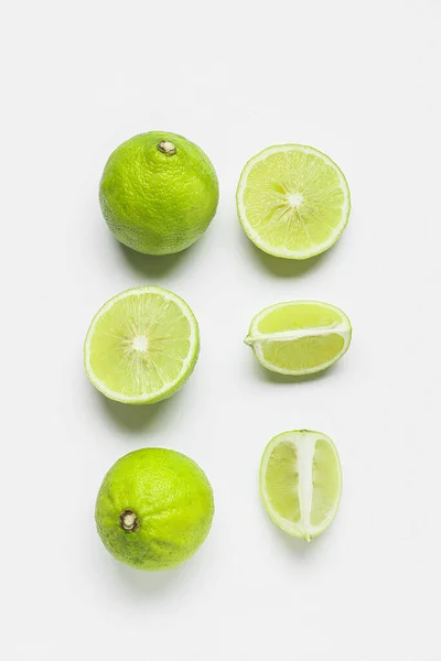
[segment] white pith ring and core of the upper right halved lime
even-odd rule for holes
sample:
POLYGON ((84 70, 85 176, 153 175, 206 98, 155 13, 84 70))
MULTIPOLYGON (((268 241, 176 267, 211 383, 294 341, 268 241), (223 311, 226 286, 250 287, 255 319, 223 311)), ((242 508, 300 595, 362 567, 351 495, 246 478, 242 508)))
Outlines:
MULTIPOLYGON (((294 193, 293 195, 298 196, 300 194, 294 193)), ((301 203, 299 204, 298 197, 295 197, 295 199, 297 199, 297 204, 292 205, 293 208, 299 207, 301 204, 301 203)), ((320 252, 323 252, 324 250, 326 250, 327 248, 333 246, 333 243, 335 243, 335 241, 337 240, 337 238, 340 237, 340 235, 342 234, 342 231, 344 230, 344 228, 347 225, 349 209, 351 209, 351 195, 349 195, 347 182, 345 180, 343 172, 340 170, 337 164, 334 163, 334 161, 332 161, 332 159, 326 156, 326 154, 322 153, 321 151, 319 151, 312 147, 306 147, 303 144, 276 144, 273 147, 269 147, 269 148, 265 149, 263 151, 261 151, 259 154, 257 154, 256 156, 250 159, 248 161, 248 163, 245 165, 245 167, 241 172, 241 175, 240 175, 239 184, 237 186, 237 206, 238 206, 238 215, 239 215, 240 223, 241 223, 246 234, 248 235, 248 237, 251 239, 251 241, 254 243, 256 243, 256 246, 258 246, 258 248, 260 248, 265 252, 275 254, 276 257, 306 259, 309 257, 313 257, 314 254, 319 254, 320 252), (326 163, 326 165, 330 165, 337 174, 340 186, 345 194, 344 195, 344 205, 342 206, 342 221, 337 225, 337 227, 327 237, 327 239, 325 241, 323 241, 322 243, 315 243, 313 248, 309 248, 309 249, 304 249, 304 250, 287 250, 286 248, 282 248, 280 246, 273 247, 270 243, 267 243, 266 241, 263 241, 260 238, 260 235, 248 223, 246 206, 244 203, 244 192, 245 192, 245 188, 247 187, 248 175, 249 175, 250 171, 254 169, 254 166, 257 163, 259 163, 260 161, 265 161, 268 156, 271 156, 275 153, 287 152, 287 151, 301 151, 302 153, 313 154, 314 156, 322 159, 324 161, 324 163, 326 163)))

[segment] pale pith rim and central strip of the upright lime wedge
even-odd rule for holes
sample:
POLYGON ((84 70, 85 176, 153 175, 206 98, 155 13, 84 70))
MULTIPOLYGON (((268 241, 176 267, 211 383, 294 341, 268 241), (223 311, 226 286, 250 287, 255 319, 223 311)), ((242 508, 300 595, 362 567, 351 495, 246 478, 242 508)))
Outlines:
POLYGON ((312 496, 313 496, 313 480, 312 480, 312 467, 313 467, 313 458, 315 453, 315 444, 318 441, 324 441, 329 445, 331 445, 337 462, 336 465, 338 467, 338 478, 340 484, 342 481, 342 472, 340 465, 338 453, 334 443, 331 441, 329 436, 322 434, 320 432, 312 431, 294 431, 294 432, 284 432, 275 436, 272 441, 268 444, 265 449, 261 466, 260 466, 260 485, 261 485, 261 494, 265 502, 265 507, 267 508, 269 514, 272 520, 278 523, 283 530, 292 534, 293 537, 302 538, 305 541, 310 541, 312 538, 316 537, 332 522, 335 512, 338 509, 340 505, 340 496, 334 503, 334 508, 329 512, 326 519, 321 522, 320 525, 311 524, 311 508, 312 508, 312 496), (284 517, 281 517, 272 507, 271 500, 266 490, 266 474, 268 469, 268 464, 271 458, 272 452, 279 443, 292 443, 295 446, 297 451, 297 468, 299 475, 298 481, 298 497, 300 503, 300 513, 301 519, 300 523, 294 523, 284 517))

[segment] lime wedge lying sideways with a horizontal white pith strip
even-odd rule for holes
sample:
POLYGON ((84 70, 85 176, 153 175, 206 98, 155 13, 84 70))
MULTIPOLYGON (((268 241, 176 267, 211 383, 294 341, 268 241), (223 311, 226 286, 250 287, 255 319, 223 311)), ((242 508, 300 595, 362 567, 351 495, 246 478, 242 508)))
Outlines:
POLYGON ((263 367, 281 375, 311 375, 333 365, 348 349, 351 322, 319 301, 289 301, 261 310, 245 344, 263 367))

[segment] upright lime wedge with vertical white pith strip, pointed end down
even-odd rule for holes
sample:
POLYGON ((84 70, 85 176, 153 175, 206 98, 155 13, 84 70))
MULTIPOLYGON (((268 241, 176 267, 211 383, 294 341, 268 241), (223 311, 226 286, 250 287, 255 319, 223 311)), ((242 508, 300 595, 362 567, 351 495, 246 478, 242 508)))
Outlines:
POLYGON ((260 494, 269 516, 292 537, 309 542, 331 524, 342 494, 337 449, 325 434, 283 432, 267 445, 260 494))

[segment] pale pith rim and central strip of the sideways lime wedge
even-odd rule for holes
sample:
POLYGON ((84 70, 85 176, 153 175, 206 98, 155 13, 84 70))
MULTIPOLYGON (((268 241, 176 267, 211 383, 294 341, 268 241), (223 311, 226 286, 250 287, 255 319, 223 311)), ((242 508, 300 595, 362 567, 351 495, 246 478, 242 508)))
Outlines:
POLYGON ((249 334, 245 338, 245 343, 252 347, 256 358, 267 369, 270 369, 270 370, 276 369, 276 371, 278 371, 279 373, 282 373, 282 375, 303 376, 303 375, 310 375, 310 373, 314 373, 316 371, 321 371, 322 369, 326 369, 326 367, 330 367, 331 365, 336 362, 338 360, 338 358, 341 358, 346 353, 347 347, 349 346, 349 343, 351 343, 351 337, 352 337, 351 322, 347 318, 347 316, 343 313, 343 311, 340 310, 338 307, 335 307, 334 305, 330 305, 329 303, 322 303, 321 301, 289 301, 289 302, 284 302, 284 303, 276 303, 275 305, 270 305, 269 307, 265 307, 263 310, 261 310, 252 319, 250 328, 249 328, 249 334), (269 313, 273 312, 275 310, 281 308, 281 307, 294 307, 295 305, 313 305, 313 306, 320 305, 321 307, 332 310, 333 312, 336 312, 341 316, 341 323, 331 324, 330 326, 322 326, 322 327, 318 327, 318 328, 297 328, 297 329, 292 329, 292 330, 281 330, 280 333, 268 333, 268 334, 259 333, 259 330, 257 329, 259 326, 259 323, 269 313), (282 367, 280 367, 279 365, 275 365, 273 362, 268 361, 263 356, 262 344, 265 344, 265 343, 288 342, 290 339, 292 339, 292 340, 301 339, 302 337, 319 337, 319 336, 333 335, 333 334, 337 334, 343 338, 343 347, 338 351, 338 354, 333 356, 333 358, 331 360, 327 360, 326 362, 311 367, 305 370, 284 369, 282 367))

